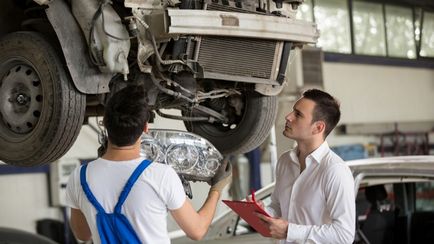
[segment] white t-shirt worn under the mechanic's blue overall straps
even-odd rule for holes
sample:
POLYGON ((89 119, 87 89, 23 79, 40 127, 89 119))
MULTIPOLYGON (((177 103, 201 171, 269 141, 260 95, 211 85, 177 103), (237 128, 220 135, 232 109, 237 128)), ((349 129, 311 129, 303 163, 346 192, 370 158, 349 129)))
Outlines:
MULTIPOLYGON (((142 158, 109 161, 99 158, 88 164, 86 180, 95 198, 107 213, 112 213, 119 195, 142 158)), ((96 209, 80 185, 80 168, 71 174, 66 188, 66 203, 80 209, 86 217, 94 243, 100 243, 96 226, 96 209)), ((151 163, 137 179, 122 206, 142 243, 170 243, 167 212, 184 204, 186 196, 181 180, 172 167, 151 163)))

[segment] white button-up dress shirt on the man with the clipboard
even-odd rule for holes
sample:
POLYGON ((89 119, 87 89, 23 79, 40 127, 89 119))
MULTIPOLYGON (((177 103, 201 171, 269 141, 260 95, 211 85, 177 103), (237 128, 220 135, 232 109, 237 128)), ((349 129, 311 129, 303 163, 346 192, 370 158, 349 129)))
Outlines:
POLYGON ((327 142, 306 157, 300 174, 297 148, 285 152, 276 168, 276 186, 267 207, 288 220, 282 243, 352 243, 355 234, 354 178, 327 142))

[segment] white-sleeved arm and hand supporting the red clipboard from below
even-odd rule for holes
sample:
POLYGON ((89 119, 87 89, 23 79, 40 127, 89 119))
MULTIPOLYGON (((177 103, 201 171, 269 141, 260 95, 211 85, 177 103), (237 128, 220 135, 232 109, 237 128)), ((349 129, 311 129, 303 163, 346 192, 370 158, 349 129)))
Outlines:
POLYGON ((305 243, 352 243, 355 234, 354 179, 347 167, 337 165, 328 175, 325 186, 326 209, 330 211, 330 224, 297 225, 283 219, 269 218, 258 214, 276 239, 305 243), (306 242, 309 243, 309 242, 306 242))

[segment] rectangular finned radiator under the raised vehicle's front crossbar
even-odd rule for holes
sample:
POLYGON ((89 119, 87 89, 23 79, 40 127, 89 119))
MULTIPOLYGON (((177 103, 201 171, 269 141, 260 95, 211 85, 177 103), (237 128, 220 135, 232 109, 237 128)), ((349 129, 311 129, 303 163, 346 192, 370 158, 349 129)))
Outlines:
POLYGON ((271 79, 276 41, 203 37, 199 64, 206 72, 271 79))

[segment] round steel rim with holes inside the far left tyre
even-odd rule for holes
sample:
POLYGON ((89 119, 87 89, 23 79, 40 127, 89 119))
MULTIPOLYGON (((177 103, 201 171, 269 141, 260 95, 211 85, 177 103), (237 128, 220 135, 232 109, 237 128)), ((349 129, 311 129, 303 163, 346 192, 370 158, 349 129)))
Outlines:
POLYGON ((30 133, 42 111, 42 84, 35 69, 21 60, 2 65, 0 121, 15 134, 30 133))

